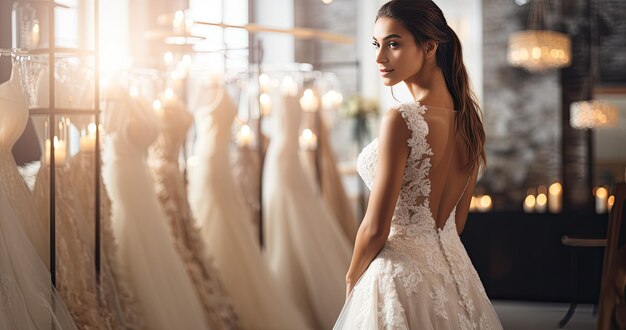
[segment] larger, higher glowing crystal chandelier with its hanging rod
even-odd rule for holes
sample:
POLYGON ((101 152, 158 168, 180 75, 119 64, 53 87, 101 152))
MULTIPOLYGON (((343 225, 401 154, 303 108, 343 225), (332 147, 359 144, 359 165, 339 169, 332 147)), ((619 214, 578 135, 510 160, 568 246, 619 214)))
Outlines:
POLYGON ((509 64, 530 72, 568 66, 571 63, 571 40, 564 33, 542 30, 545 0, 530 2, 528 30, 509 37, 509 64))

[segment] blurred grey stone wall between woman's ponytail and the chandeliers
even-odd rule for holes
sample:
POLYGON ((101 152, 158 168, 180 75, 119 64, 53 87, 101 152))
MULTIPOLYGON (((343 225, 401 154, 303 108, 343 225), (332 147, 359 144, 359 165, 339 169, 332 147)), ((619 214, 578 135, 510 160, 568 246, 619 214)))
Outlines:
POLYGON ((508 65, 507 41, 524 30, 528 5, 483 0, 484 124, 487 170, 479 191, 497 209, 520 209, 527 188, 560 178, 558 71, 528 73, 508 65))

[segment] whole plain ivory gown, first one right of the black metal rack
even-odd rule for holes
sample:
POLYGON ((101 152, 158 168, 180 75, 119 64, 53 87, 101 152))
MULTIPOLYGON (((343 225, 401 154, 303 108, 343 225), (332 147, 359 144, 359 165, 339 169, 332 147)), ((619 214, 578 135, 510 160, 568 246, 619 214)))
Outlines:
POLYGON ((147 148, 158 135, 156 115, 143 100, 111 89, 103 179, 121 273, 148 329, 208 329, 146 164, 147 148))

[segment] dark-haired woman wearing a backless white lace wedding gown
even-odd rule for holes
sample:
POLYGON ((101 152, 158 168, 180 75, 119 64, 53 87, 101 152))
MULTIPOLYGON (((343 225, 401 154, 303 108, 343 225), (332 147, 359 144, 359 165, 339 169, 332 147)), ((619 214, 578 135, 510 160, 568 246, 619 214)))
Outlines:
POLYGON ((500 329, 459 239, 485 134, 461 44, 431 0, 378 11, 373 45, 385 85, 414 102, 385 113, 357 169, 372 190, 336 329, 500 329))

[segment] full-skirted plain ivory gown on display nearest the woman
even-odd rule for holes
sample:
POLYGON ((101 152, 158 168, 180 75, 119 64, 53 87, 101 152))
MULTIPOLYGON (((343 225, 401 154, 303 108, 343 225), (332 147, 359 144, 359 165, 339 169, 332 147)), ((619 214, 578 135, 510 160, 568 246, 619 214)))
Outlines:
POLYGON ((299 100, 285 96, 282 103, 274 108, 279 125, 263 165, 267 260, 309 322, 328 329, 345 299, 352 249, 300 162, 299 100))

